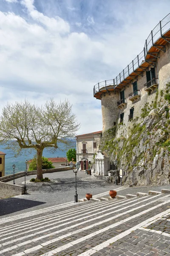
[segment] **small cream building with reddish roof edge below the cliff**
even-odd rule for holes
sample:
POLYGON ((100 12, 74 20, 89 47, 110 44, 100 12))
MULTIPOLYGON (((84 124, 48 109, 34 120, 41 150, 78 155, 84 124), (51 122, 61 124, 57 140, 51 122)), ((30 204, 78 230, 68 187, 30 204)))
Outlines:
POLYGON ((102 131, 76 136, 77 161, 81 163, 81 170, 87 170, 99 149, 102 131))

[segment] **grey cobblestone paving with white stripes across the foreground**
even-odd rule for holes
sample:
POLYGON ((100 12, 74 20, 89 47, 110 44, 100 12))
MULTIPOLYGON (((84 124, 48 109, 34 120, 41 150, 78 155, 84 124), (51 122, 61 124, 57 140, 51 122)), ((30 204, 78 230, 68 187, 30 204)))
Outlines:
POLYGON ((170 194, 88 201, 0 219, 2 256, 170 256, 170 194))

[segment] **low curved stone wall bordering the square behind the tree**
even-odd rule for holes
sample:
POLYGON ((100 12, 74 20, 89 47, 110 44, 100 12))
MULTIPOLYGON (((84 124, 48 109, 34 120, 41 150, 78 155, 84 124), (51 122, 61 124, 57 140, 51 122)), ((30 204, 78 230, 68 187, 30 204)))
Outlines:
MULTIPOLYGON (((60 167, 60 168, 54 168, 54 169, 44 169, 42 170, 42 173, 51 173, 51 172, 62 172, 62 171, 68 171, 71 170, 70 166, 67 167, 60 167)), ((37 171, 29 171, 27 172, 27 175, 36 175, 37 171)), ((0 177, 0 198, 8 198, 15 195, 23 195, 25 194, 24 186, 19 186, 15 184, 8 184, 6 182, 15 179, 24 177, 25 172, 17 172, 14 175, 7 175, 4 177, 0 177)))

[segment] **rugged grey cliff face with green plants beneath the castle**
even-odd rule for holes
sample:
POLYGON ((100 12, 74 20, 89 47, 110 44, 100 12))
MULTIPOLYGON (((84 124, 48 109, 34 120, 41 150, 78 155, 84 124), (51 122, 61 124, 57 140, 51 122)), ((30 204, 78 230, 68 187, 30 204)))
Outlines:
POLYGON ((129 127, 119 124, 103 134, 100 148, 123 169, 123 183, 133 186, 170 183, 170 83, 129 127), (159 100, 158 100, 159 99, 159 100), (116 134, 121 134, 117 137, 116 134), (120 132, 121 131, 121 132, 120 132))

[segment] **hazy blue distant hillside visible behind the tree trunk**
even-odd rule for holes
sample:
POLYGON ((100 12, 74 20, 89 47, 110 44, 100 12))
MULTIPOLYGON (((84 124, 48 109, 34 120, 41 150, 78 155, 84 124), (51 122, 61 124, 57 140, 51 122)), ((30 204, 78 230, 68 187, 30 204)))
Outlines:
MULTIPOLYGON (((3 151, 4 153, 6 153, 5 175, 9 175, 9 174, 13 173, 13 169, 12 169, 13 164, 15 164, 15 166, 16 166, 15 172, 24 171, 26 169, 26 163, 25 163, 26 159, 31 160, 34 157, 34 155, 36 154, 36 150, 34 150, 34 151, 32 151, 31 154, 23 154, 19 157, 14 157, 14 153, 12 151, 6 150, 4 148, 5 148, 5 146, 0 145, 0 151, 3 151)), ((74 148, 76 148, 76 142, 75 142, 74 148)), ((44 157, 66 157, 66 152, 68 151, 68 149, 64 150, 64 151, 57 149, 56 152, 54 154, 52 154, 45 148, 43 150, 43 156, 44 157)))

